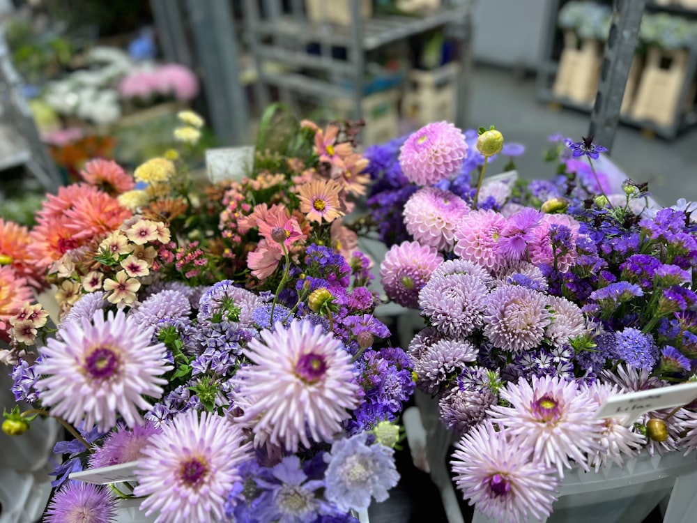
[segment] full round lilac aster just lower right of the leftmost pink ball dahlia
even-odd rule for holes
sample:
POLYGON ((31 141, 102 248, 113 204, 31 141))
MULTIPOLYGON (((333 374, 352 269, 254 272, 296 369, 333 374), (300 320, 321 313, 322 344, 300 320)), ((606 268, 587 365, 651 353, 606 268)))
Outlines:
POLYGON ((422 315, 444 335, 464 338, 484 324, 489 289, 471 274, 434 276, 419 293, 422 315))

